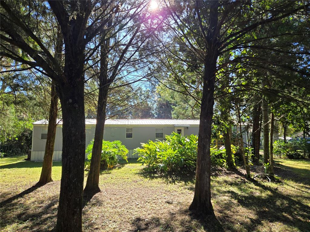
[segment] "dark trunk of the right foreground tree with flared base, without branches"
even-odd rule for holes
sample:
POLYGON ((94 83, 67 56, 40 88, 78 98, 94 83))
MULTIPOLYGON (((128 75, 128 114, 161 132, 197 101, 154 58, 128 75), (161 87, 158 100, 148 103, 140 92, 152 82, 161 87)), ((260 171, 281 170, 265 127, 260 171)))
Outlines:
MULTIPOLYGON (((197 8, 199 1, 196 1, 197 8)), ((196 183, 193 202, 189 209, 203 215, 214 215, 211 203, 211 126, 214 106, 214 85, 218 44, 216 28, 218 24, 218 1, 210 2, 209 27, 206 36, 206 57, 204 61, 203 89, 201 97, 200 123, 198 132, 198 150, 196 183)), ((199 8, 198 8, 199 9, 199 8)), ((197 10, 197 9, 196 9, 197 10)), ((201 30, 203 30, 201 28, 201 30)))

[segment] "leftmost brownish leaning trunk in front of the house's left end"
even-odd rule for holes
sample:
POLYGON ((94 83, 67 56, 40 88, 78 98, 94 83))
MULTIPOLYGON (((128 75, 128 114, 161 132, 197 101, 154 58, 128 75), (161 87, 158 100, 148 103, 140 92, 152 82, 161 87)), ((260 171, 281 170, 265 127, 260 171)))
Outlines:
POLYGON ((47 127, 47 138, 45 144, 45 152, 43 158, 43 165, 40 180, 37 185, 45 185, 52 180, 52 164, 53 164, 53 153, 54 143, 56 135, 56 121, 58 111, 58 95, 56 92, 55 81, 51 84, 51 105, 48 116, 48 127, 47 127))

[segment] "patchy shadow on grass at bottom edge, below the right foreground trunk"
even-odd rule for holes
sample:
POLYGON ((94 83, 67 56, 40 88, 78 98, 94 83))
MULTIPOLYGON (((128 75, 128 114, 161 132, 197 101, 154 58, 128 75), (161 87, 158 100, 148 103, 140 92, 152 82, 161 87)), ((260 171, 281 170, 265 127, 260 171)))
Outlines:
POLYGON ((164 219, 160 217, 150 219, 136 217, 131 224, 131 232, 158 230, 187 232, 201 230, 202 228, 207 232, 224 232, 223 226, 215 216, 197 216, 188 209, 170 212, 164 219))

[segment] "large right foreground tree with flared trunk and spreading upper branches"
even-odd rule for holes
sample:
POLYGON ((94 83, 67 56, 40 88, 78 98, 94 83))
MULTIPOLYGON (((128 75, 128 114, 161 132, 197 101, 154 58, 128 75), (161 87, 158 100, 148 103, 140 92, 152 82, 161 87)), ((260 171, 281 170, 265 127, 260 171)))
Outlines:
MULTIPOLYGON (((253 36, 252 32, 256 28, 288 17, 305 6, 296 2, 252 4, 235 1, 169 2, 166 6, 165 10, 173 21, 172 25, 169 21, 170 29, 177 41, 176 49, 166 46, 169 53, 167 62, 175 56, 189 67, 196 66, 195 69, 203 72, 197 78, 201 79, 202 96, 195 194, 190 209, 197 213, 213 214, 210 200, 210 142, 215 82, 218 72, 243 59, 232 58, 228 62, 221 62, 225 59, 219 59, 218 62, 218 58, 227 52, 231 56, 239 54, 238 48, 263 40, 264 36, 253 36), (228 23, 232 21, 234 24, 228 23)), ((248 59, 246 53, 241 55, 248 59)))

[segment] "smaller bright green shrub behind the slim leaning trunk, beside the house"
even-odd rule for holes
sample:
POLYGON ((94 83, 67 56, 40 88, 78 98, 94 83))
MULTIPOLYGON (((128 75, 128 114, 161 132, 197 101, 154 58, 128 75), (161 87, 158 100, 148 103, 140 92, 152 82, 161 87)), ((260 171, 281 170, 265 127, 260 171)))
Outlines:
MULTIPOLYGON (((87 154, 87 161, 85 161, 85 169, 89 169, 91 164, 91 152, 93 149, 94 140, 87 146, 85 152, 87 154)), ((120 159, 127 161, 127 148, 121 141, 103 141, 102 152, 100 160, 100 169, 111 169, 118 164, 120 159)), ((128 161, 127 161, 128 162, 128 161)))

